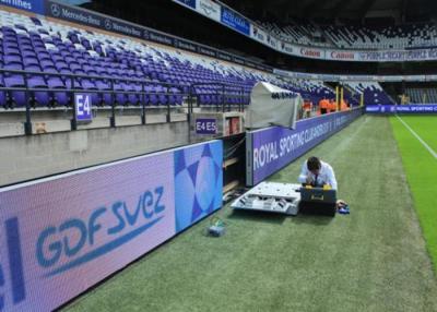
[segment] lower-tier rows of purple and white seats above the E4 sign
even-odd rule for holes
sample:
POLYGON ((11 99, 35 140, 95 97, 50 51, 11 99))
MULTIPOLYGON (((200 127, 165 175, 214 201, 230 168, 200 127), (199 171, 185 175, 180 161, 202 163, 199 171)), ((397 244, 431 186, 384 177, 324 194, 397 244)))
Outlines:
POLYGON ((150 106, 179 106, 190 92, 199 105, 248 104, 248 94, 258 81, 308 96, 329 92, 317 83, 287 83, 272 74, 236 64, 44 19, 0 11, 0 67, 27 72, 3 72, 0 84, 8 88, 27 86, 33 89, 31 98, 23 91, 1 92, 3 108, 24 107, 26 100, 31 100, 33 107, 66 106, 71 101, 72 89, 92 93, 93 103, 97 105, 115 101, 121 106, 142 101, 150 106), (80 76, 72 79, 71 74, 80 76), (144 81, 146 83, 142 83, 144 81))

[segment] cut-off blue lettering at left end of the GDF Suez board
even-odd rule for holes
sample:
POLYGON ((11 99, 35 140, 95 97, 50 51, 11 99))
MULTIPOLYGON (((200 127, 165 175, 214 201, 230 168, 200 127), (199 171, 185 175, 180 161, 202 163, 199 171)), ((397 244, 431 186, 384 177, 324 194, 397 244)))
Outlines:
POLYGON ((4 221, 4 232, 0 229, 0 248, 4 248, 1 255, 7 255, 7 259, 0 257, 0 311, 3 311, 26 299, 17 218, 4 221))

